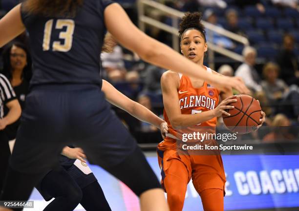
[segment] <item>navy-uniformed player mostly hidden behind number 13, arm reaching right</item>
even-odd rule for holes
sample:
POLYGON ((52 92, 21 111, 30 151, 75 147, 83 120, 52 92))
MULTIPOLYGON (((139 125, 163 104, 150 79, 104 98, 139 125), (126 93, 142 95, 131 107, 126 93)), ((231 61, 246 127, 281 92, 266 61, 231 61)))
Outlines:
MULTIPOLYGON (((107 33, 102 52, 112 52, 116 44, 115 39, 107 33)), ((168 132, 164 120, 145 106, 130 100, 107 81, 102 82, 101 90, 109 103, 127 111, 140 121, 158 127, 162 136, 168 132)), ((85 163, 85 158, 81 148, 70 146, 63 149, 59 159, 60 166, 47 173, 37 186, 46 201, 55 198, 44 211, 72 210, 79 203, 86 211, 111 211, 100 184, 85 163)))

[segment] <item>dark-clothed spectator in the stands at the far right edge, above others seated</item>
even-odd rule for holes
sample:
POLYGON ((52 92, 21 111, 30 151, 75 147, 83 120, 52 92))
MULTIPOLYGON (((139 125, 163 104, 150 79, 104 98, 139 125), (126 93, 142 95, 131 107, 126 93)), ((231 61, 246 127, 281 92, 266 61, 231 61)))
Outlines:
POLYGON ((281 68, 280 78, 287 84, 299 84, 299 63, 294 53, 295 39, 292 35, 285 35, 283 48, 280 51, 277 61, 281 68))

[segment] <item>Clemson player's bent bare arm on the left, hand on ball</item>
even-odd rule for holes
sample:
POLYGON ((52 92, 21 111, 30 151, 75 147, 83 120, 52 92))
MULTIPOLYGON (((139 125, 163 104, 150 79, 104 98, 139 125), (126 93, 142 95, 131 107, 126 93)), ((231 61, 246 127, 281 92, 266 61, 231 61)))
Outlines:
POLYGON ((225 109, 233 108, 233 106, 227 104, 235 102, 235 99, 232 99, 235 96, 232 96, 231 98, 222 101, 221 104, 219 104, 213 110, 196 114, 182 114, 177 94, 177 90, 179 87, 178 74, 172 71, 167 71, 163 73, 161 77, 161 87, 164 108, 171 122, 171 126, 174 129, 195 126, 200 123, 206 122, 210 119, 213 119, 216 116, 220 116, 223 113, 226 115, 230 115, 225 111, 225 109))

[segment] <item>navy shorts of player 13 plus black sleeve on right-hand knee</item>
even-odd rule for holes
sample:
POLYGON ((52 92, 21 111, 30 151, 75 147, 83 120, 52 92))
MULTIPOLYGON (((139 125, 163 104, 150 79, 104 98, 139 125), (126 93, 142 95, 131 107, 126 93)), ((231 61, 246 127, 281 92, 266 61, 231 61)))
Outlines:
POLYGON ((160 187, 136 141, 111 112, 98 85, 32 87, 22 112, 11 168, 47 173, 59 165, 58 156, 67 145, 83 148, 91 164, 106 169, 136 194, 160 187), (142 185, 144 190, 133 187, 138 182, 130 182, 138 177, 140 184, 148 184, 142 185))

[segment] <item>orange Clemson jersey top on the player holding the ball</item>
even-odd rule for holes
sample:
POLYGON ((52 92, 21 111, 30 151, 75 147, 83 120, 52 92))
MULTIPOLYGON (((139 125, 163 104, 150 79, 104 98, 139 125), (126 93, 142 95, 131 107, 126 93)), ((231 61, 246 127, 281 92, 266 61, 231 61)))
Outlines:
MULTIPOLYGON (((212 73, 212 70, 206 67, 208 72, 212 73)), ((211 84, 204 82, 202 87, 195 88, 192 86, 191 80, 188 76, 179 74, 180 76, 180 85, 178 88, 178 97, 182 114, 196 114, 204 111, 214 109, 219 103, 219 91, 211 84)), ((178 139, 178 131, 176 131, 169 121, 167 113, 164 109, 163 111, 164 119, 169 126, 169 133, 167 134, 167 139, 178 139)), ((192 127, 195 129, 196 127, 216 127, 217 118, 203 122, 197 126, 192 127)))

